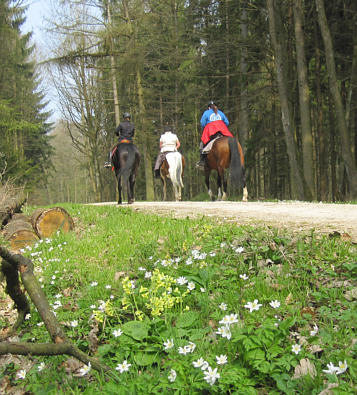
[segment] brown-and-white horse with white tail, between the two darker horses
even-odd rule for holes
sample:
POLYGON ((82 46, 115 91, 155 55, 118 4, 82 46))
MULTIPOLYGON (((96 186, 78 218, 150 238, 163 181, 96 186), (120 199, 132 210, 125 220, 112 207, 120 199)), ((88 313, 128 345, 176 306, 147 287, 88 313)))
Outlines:
POLYGON ((160 177, 163 185, 164 200, 166 194, 166 179, 170 178, 174 190, 175 200, 181 200, 181 190, 183 188, 182 177, 185 169, 185 158, 179 152, 169 152, 160 168, 160 177))

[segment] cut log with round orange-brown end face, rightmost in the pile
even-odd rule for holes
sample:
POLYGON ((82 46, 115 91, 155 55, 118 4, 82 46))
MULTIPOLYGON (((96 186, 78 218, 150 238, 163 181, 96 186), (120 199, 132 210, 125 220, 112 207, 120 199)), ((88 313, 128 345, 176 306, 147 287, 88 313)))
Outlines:
POLYGON ((73 219, 62 207, 37 209, 31 216, 31 222, 41 239, 51 237, 58 230, 69 232, 74 229, 73 219))

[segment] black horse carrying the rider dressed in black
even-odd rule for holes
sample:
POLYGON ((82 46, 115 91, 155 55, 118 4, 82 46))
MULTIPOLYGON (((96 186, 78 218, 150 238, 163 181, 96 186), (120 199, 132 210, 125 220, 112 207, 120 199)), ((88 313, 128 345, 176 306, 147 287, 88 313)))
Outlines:
POLYGON ((123 187, 126 187, 128 192, 128 204, 134 203, 135 179, 140 164, 140 153, 138 149, 133 143, 119 143, 114 148, 112 163, 118 181, 118 204, 122 204, 122 179, 123 187))

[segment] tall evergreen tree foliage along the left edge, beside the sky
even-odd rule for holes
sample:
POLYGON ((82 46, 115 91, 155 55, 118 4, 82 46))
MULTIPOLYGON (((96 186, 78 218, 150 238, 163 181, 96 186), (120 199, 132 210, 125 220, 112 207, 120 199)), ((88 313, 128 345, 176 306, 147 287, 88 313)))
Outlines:
POLYGON ((49 113, 39 90, 31 34, 22 34, 26 7, 0 3, 0 174, 32 187, 43 177, 50 155, 49 113))

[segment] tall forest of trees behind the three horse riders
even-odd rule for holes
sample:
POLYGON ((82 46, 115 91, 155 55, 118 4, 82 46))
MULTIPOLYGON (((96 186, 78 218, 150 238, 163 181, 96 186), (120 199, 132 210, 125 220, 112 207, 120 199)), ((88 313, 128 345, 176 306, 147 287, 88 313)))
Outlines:
POLYGON ((0 1, 0 181, 31 203, 115 200, 103 163, 126 111, 136 199, 161 198, 166 124, 187 161, 183 198, 207 198, 195 163, 210 100, 239 136, 252 199, 357 200, 355 0, 52 0, 41 61, 21 32, 27 4, 0 1))

